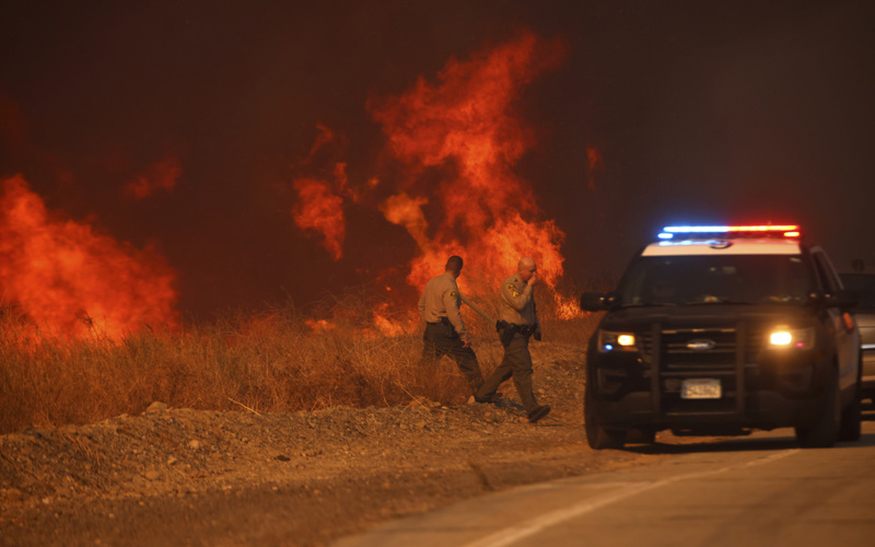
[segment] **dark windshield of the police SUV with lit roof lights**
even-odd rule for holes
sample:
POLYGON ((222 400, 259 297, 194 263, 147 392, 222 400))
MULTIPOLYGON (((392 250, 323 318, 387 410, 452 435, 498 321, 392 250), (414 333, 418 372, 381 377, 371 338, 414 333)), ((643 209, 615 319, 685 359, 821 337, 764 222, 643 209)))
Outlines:
POLYGON ((797 255, 644 256, 618 294, 621 305, 800 304, 810 284, 797 255))

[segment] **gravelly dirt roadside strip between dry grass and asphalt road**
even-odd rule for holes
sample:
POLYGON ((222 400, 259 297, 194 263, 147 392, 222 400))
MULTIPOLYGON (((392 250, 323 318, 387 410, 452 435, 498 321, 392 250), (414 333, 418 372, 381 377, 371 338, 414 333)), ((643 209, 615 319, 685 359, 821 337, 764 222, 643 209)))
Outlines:
POLYGON ((2 545, 324 545, 386 519, 656 457, 594 452, 583 358, 536 363, 553 411, 336 408, 294 415, 154 404, 141 416, 0 437, 2 545))

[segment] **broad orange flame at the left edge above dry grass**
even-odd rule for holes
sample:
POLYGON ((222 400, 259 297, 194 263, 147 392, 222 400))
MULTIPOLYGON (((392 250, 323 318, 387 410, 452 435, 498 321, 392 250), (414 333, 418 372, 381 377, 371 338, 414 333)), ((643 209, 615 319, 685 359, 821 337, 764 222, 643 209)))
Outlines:
MULTIPOLYGON (((176 327, 176 275, 153 249, 52 220, 19 175, 0 198, 0 289, 39 326, 119 340, 145 325, 176 327)), ((52 216, 57 217, 57 216, 52 216)))

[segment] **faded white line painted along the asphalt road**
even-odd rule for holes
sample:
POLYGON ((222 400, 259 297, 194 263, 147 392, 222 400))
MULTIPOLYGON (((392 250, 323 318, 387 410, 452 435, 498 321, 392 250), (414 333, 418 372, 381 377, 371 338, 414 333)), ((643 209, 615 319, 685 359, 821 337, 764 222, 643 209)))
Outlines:
POLYGON ((719 469, 712 469, 705 472, 690 473, 687 475, 679 475, 677 477, 669 477, 667 479, 657 480, 655 482, 627 482, 625 484, 626 486, 623 486, 622 488, 620 488, 615 492, 607 493, 597 499, 588 500, 583 503, 579 503, 576 505, 571 505, 570 508, 567 509, 561 509, 559 511, 545 513, 540 516, 536 516, 535 519, 530 519, 522 524, 517 524, 515 526, 501 529, 492 535, 480 538, 477 542, 468 544, 466 547, 504 547, 508 545, 512 545, 518 542, 520 539, 523 539, 524 537, 537 534, 538 532, 548 528, 550 526, 555 526, 556 524, 559 524, 562 521, 567 521, 569 519, 574 519, 576 516, 590 513, 592 511, 595 511, 596 509, 600 509, 606 505, 610 505, 611 503, 615 503, 617 501, 631 498, 637 493, 641 493, 648 490, 653 490, 655 488, 660 488, 662 486, 666 486, 672 482, 679 482, 681 480, 707 477, 709 475, 718 475, 730 470, 743 469, 745 467, 752 467, 755 465, 768 464, 777 459, 788 457, 792 454, 795 454, 800 449, 792 449, 759 459, 746 462, 744 464, 731 465, 727 467, 721 467, 719 469))

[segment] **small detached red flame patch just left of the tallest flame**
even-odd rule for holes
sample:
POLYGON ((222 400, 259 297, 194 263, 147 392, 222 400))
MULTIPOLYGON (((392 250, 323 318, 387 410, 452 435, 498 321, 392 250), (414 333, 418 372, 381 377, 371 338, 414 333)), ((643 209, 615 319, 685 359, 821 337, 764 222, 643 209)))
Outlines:
POLYGON ((339 260, 342 256, 343 237, 347 235, 343 198, 336 196, 328 183, 315 178, 295 181, 294 189, 300 198, 292 210, 294 223, 301 230, 320 233, 325 237, 325 248, 335 260, 339 260))

